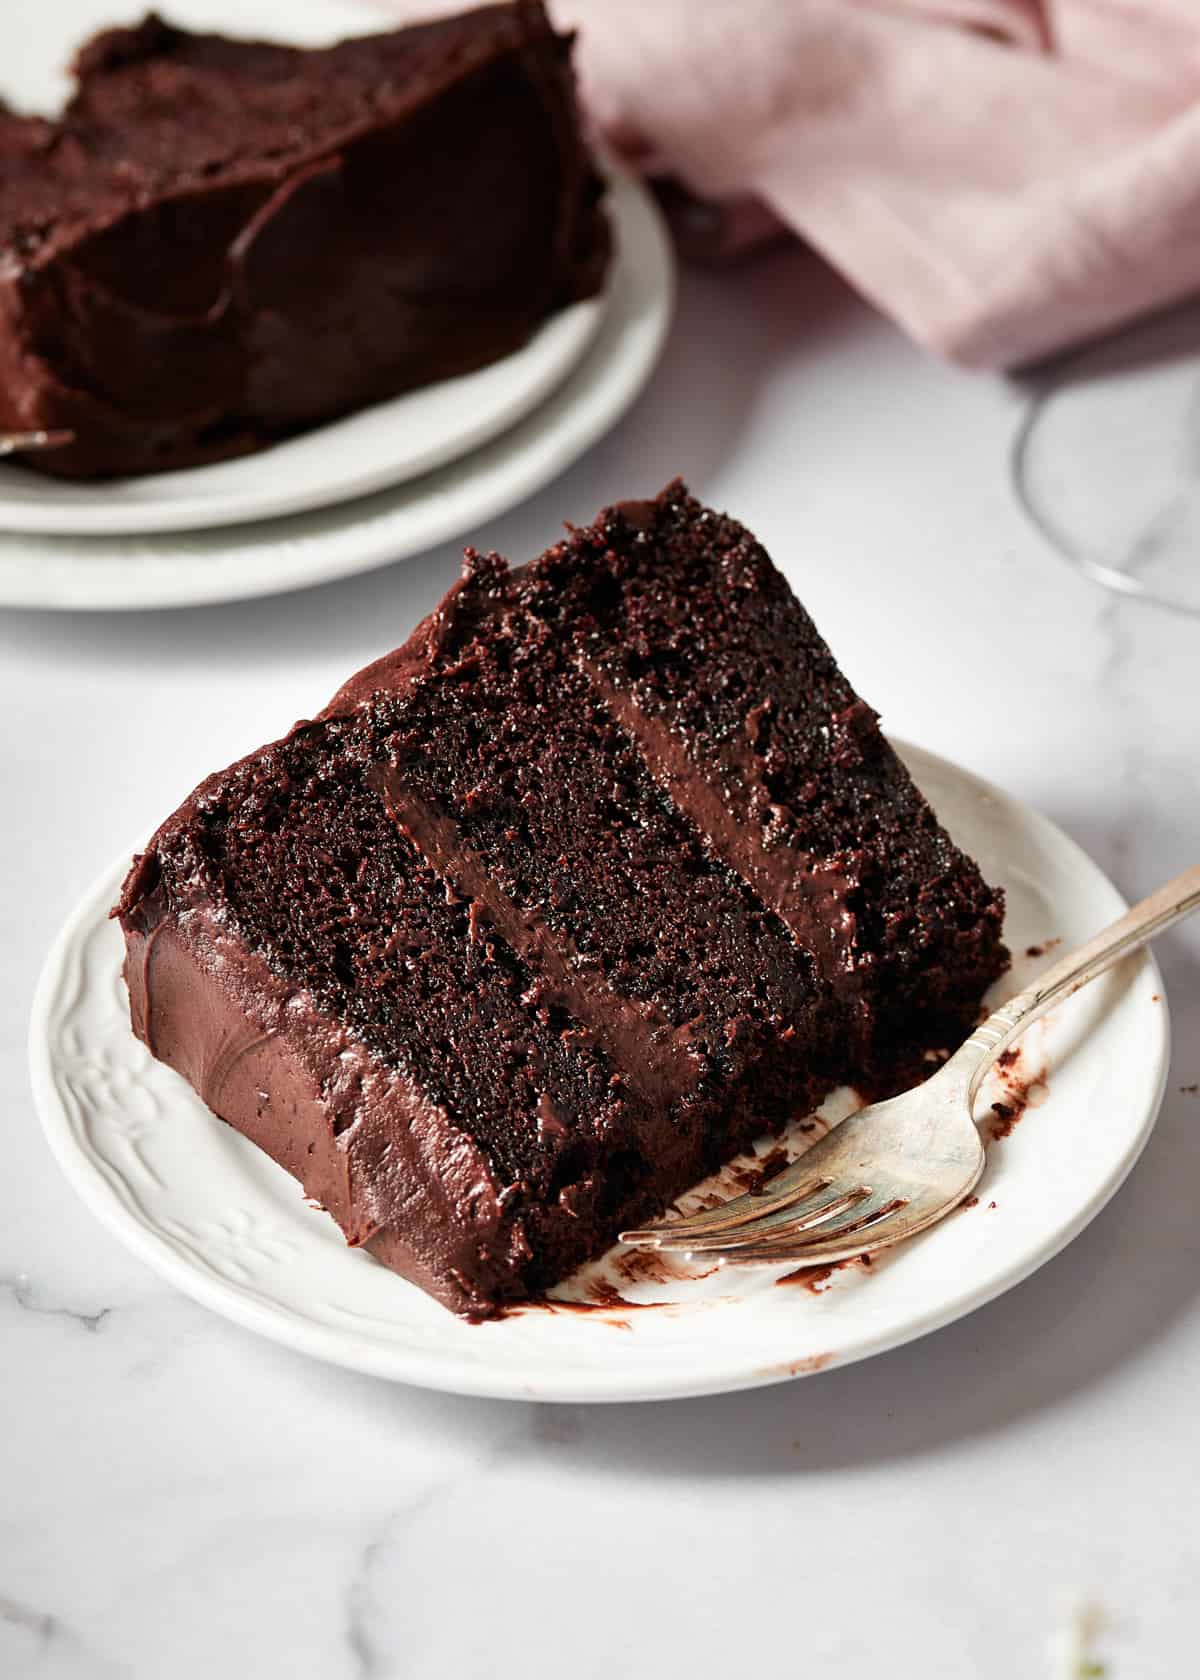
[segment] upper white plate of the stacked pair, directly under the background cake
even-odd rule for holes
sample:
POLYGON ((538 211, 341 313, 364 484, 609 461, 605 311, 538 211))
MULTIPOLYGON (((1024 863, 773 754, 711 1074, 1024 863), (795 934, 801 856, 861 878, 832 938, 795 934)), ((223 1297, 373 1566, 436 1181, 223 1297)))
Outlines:
POLYGON ((459 460, 545 402, 600 331, 607 292, 551 316, 511 356, 210 467, 69 484, 0 462, 0 529, 203 531, 329 507, 459 460))

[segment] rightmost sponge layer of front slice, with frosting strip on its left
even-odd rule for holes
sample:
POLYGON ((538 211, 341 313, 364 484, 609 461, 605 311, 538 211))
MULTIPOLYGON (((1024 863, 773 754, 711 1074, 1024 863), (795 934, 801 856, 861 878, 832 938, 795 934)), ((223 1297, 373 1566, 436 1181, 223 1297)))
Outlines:
POLYGON ((911 1040, 914 1013, 934 1035, 968 1023, 995 978, 1000 897, 745 526, 672 484, 571 533, 523 596, 716 855, 813 951, 864 1047, 911 1040))

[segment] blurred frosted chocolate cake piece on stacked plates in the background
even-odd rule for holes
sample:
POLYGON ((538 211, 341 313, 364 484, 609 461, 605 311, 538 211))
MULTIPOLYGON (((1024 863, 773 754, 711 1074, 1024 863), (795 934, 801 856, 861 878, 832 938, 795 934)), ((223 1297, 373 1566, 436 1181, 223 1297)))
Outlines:
POLYGON ((301 50, 148 17, 0 111, 0 430, 67 477, 242 454, 523 344, 602 282, 539 0, 301 50))

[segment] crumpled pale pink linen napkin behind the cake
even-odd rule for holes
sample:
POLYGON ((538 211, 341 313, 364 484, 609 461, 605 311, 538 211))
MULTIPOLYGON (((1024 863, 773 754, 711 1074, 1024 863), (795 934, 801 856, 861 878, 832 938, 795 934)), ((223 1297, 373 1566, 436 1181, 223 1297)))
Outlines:
POLYGON ((1200 0, 550 10, 632 161, 766 207, 946 356, 1013 366, 1200 287, 1200 0))

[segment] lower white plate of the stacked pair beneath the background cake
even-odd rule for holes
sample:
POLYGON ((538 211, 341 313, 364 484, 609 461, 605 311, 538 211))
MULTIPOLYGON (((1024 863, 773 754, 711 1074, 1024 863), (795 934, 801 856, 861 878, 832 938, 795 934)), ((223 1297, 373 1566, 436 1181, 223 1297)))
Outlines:
MULTIPOLYGON (((597 334, 524 420, 403 486, 257 524, 121 538, 0 531, 0 606, 193 606, 274 595, 403 559, 541 489, 629 408, 671 323, 662 218, 637 180, 617 170, 608 178, 615 259, 597 334)), ((343 423, 360 420, 368 417, 343 423)))

